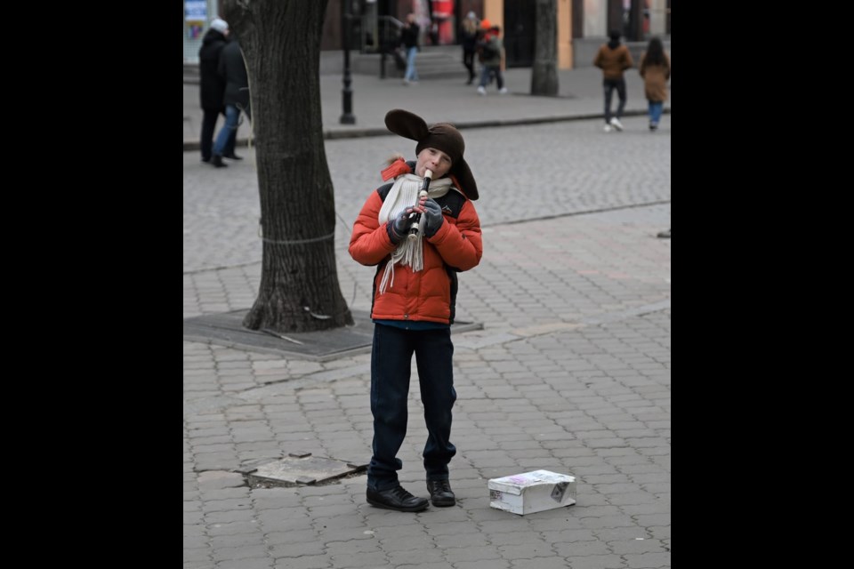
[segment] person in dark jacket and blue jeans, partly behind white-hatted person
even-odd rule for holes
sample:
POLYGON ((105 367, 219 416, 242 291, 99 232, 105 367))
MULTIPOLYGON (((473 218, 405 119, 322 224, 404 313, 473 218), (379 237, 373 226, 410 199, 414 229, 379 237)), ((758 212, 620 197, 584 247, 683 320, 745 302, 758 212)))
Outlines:
POLYGON ((249 77, 246 75, 246 63, 244 63, 238 40, 232 40, 222 48, 218 73, 225 81, 225 94, 222 97, 222 102, 225 104, 225 124, 216 137, 211 163, 221 168, 228 165, 222 162, 223 157, 232 160, 243 159, 234 153, 240 111, 246 113, 247 119, 252 120, 249 111, 249 77))

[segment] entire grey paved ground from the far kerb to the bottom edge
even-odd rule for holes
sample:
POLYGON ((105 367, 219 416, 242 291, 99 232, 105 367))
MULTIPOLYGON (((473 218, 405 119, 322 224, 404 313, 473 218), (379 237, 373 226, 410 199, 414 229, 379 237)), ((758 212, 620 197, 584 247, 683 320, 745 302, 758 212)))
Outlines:
MULTIPOLYGON (((454 508, 375 509, 365 477, 250 488, 234 472, 294 450, 365 463, 369 354, 318 363, 184 341, 185 569, 668 568, 670 560, 670 115, 650 133, 600 120, 463 132, 479 182, 484 257, 460 276, 454 508), (577 503, 521 517, 487 480, 578 477, 577 503)), ((372 268, 350 226, 398 137, 327 140, 338 275, 370 308, 372 268)), ((260 281, 251 150, 220 171, 184 153, 184 317, 246 309, 260 281)), ((415 373, 415 371, 414 371, 415 373)), ((418 383, 402 484, 426 495, 418 383)))

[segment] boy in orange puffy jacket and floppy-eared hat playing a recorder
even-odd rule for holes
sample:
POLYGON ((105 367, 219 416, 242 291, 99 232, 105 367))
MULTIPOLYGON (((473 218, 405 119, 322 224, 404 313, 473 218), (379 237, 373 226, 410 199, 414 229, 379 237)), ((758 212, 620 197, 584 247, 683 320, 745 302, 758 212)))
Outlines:
POLYGON ((367 469, 367 502, 377 508, 416 512, 426 498, 408 493, 398 481, 397 458, 407 434, 407 398, 412 355, 429 437, 423 465, 434 506, 453 506, 447 465, 456 448, 450 441, 456 400, 450 325, 454 323, 456 274, 476 267, 483 255, 480 220, 472 202, 478 187, 463 158, 465 142, 452 124, 430 127, 403 109, 385 116, 395 134, 416 140, 415 161, 395 156, 383 181, 371 192, 353 224, 350 255, 376 266, 371 318, 371 413, 373 456, 367 469), (419 197, 427 170, 427 197, 419 197), (411 235, 413 213, 421 231, 411 235))

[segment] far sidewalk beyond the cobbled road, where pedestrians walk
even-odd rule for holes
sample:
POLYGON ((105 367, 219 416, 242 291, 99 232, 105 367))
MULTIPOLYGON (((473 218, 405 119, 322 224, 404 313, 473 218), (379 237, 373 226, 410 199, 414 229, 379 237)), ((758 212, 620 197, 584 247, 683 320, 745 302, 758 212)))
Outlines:
MULTIPOLYGON (((430 123, 450 122, 460 129, 479 126, 551 123, 588 119, 603 115, 604 95, 599 68, 580 68, 558 72, 558 97, 529 95, 530 68, 511 68, 504 73, 509 93, 499 95, 495 84, 480 96, 475 85, 465 84, 465 71, 460 65, 459 78, 424 80, 404 85, 400 79, 380 79, 377 75, 352 76, 352 114, 356 124, 340 124, 342 115, 342 76, 320 76, 323 130, 326 139, 355 138, 389 134, 383 119, 391 108, 406 108, 430 123)), ((643 81, 636 68, 626 74, 628 101, 624 116, 646 115, 647 100, 643 81)), ((196 150, 201 130, 202 112, 198 103, 198 85, 184 84, 184 146, 196 150)), ((670 112, 670 100, 665 113, 670 112)), ((616 109, 616 94, 612 109, 616 109)), ((222 120, 217 123, 217 130, 222 120)), ((246 145, 249 126, 244 121, 238 128, 238 144, 246 145)))

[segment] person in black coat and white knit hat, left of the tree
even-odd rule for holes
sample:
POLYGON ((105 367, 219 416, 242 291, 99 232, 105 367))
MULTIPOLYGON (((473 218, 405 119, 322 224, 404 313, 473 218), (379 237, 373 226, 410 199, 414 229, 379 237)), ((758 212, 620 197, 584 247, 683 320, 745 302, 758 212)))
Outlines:
POLYGON ((220 64, 220 52, 227 43, 229 25, 225 20, 214 18, 211 27, 202 39, 202 47, 198 50, 199 94, 202 107, 202 162, 211 161, 211 151, 214 148, 214 131, 216 117, 225 115, 225 105, 222 96, 225 93, 225 81, 217 73, 220 64))

